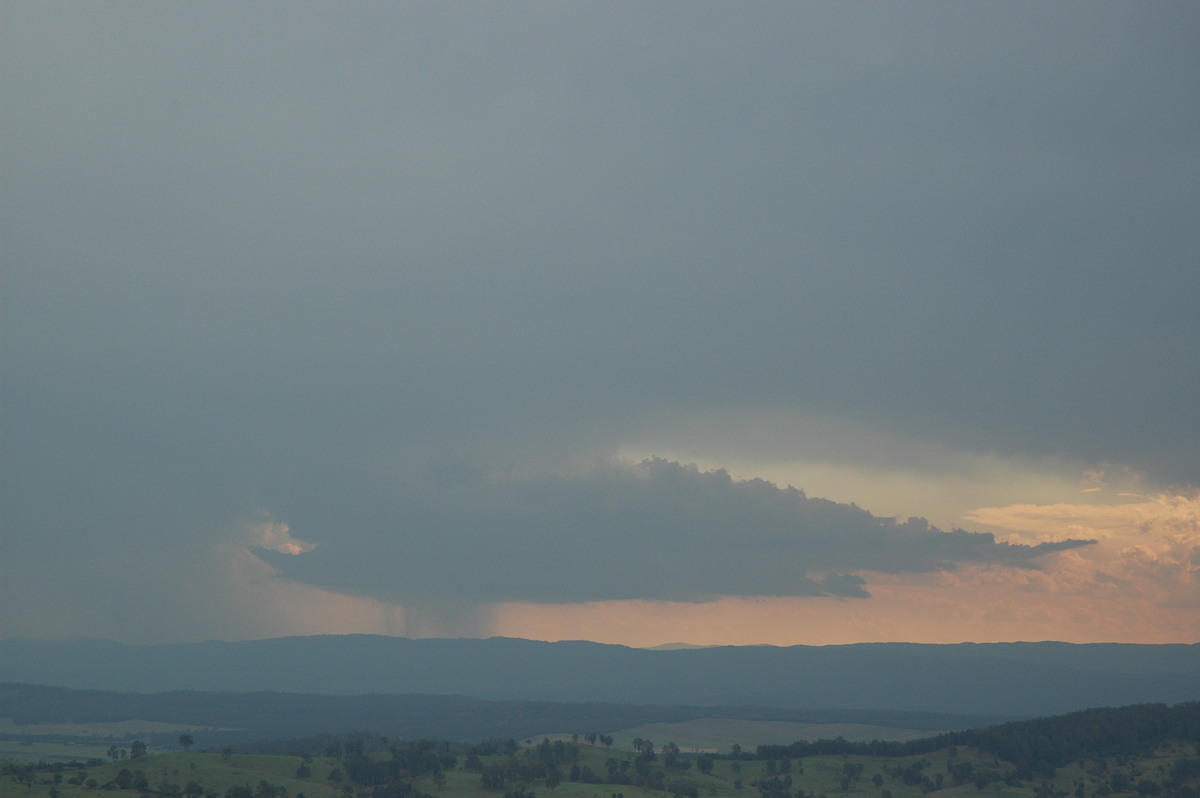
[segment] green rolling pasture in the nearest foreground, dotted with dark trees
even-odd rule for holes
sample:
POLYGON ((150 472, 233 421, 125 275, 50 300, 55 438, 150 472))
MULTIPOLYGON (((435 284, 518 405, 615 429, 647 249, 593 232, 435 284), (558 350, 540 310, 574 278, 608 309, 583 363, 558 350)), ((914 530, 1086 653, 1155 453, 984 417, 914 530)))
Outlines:
MULTIPOLYGON (((682 746, 680 746, 682 748, 682 746)), ((28 746, 35 754, 36 746, 28 746)), ((802 796, 821 798, 1111 798, 1112 796, 1138 794, 1134 785, 1139 780, 1164 782, 1171 766, 1181 757, 1198 752, 1195 745, 1164 748, 1153 756, 1117 760, 1097 760, 1072 763, 1058 768, 1052 776, 1038 776, 1018 785, 989 781, 976 786, 973 781, 954 784, 952 769, 964 768, 973 774, 995 772, 1003 763, 992 756, 983 756, 970 749, 948 749, 913 757, 871 756, 810 756, 794 761, 756 761, 719 758, 712 773, 700 772, 694 757, 682 757, 686 769, 667 768, 660 755, 654 762, 641 763, 643 768, 656 768, 665 773, 665 784, 658 790, 630 784, 586 784, 571 781, 564 768, 560 781, 547 782, 545 778, 508 780, 502 787, 484 790, 480 764, 500 767, 515 762, 534 762, 538 746, 524 746, 514 756, 491 755, 479 757, 476 769, 467 769, 464 756, 457 756, 452 767, 438 775, 422 775, 412 780, 421 793, 438 798, 510 798, 534 793, 538 798, 664 798, 671 794, 695 794, 697 798, 793 798, 802 796), (1128 791, 1111 791, 1114 772, 1128 774, 1128 791), (919 776, 913 780, 912 774, 919 776), (906 779, 905 776, 910 778, 906 779), (774 785, 774 787, 772 787, 774 785), (781 792, 782 791, 782 792, 781 792)), ((365 757, 385 762, 386 752, 365 757)), ((572 766, 590 769, 593 774, 634 773, 640 766, 632 752, 605 749, 587 744, 578 745, 578 755, 572 766)), ((164 752, 130 761, 74 768, 59 772, 41 768, 24 770, 19 766, 5 766, 0 775, 0 798, 98 798, 101 794, 164 797, 194 796, 196 798, 236 798, 236 788, 245 788, 242 796, 252 798, 386 798, 392 793, 377 793, 372 787, 350 784, 348 780, 330 780, 335 770, 346 767, 344 761, 334 757, 314 757, 307 762, 300 756, 258 756, 218 752, 164 752), (307 767, 308 775, 301 778, 298 769, 307 767), (128 770, 139 778, 143 790, 118 788, 120 772, 128 770)), ((61 767, 61 766, 59 766, 61 767)), ((584 770, 586 772, 586 770, 584 770)), ((960 779, 961 780, 961 779, 960 779)), ((1195 790, 1192 786, 1183 790, 1195 790)), ((1142 787, 1142 794, 1146 793, 1142 787)), ((415 793, 413 793, 415 796, 415 793)), ((1170 788, 1157 793, 1172 794, 1170 788)), ((1187 794, 1187 793, 1180 793, 1187 794)))

